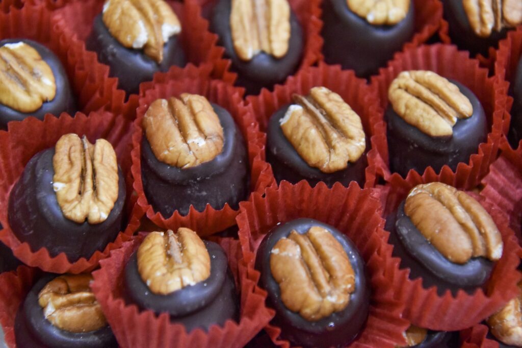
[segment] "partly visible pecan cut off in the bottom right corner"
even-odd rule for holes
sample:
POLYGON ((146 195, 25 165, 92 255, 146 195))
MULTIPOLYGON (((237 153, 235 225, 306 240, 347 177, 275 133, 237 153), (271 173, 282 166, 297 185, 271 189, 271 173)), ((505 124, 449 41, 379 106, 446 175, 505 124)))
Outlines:
MULTIPOLYGON (((522 289, 522 283, 518 283, 522 289)), ((488 318, 491 333, 508 345, 522 346, 522 294, 488 318)))

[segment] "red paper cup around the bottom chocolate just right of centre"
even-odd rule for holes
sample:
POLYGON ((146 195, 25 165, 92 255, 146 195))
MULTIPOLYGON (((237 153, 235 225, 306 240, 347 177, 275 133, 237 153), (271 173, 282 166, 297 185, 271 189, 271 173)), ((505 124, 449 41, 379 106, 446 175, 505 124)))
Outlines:
MULTIPOLYGON (((404 304, 393 298, 390 279, 399 271, 398 260, 390 257, 392 247, 385 243, 389 234, 383 229, 385 222, 376 194, 372 189, 360 189, 354 182, 348 188, 336 183, 328 189, 322 182, 311 188, 306 181, 296 185, 282 181, 278 189, 268 188, 265 196, 254 193, 248 202, 241 204, 236 218, 243 258, 250 279, 256 282, 259 279, 259 272, 254 269, 257 248, 268 231, 279 223, 299 217, 314 218, 336 227, 355 243, 366 263, 372 295, 369 319, 351 345, 354 347, 404 345, 402 333, 409 326, 409 322, 401 318, 404 304)), ((265 330, 275 344, 290 346, 290 342, 279 338, 280 328, 269 324, 265 330)))

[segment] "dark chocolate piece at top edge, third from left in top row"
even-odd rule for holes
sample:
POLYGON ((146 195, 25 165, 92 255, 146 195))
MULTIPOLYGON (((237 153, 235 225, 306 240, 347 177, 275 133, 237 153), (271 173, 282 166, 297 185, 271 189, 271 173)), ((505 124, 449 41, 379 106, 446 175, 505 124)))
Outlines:
POLYGON ((341 64, 360 77, 378 73, 413 36, 413 2, 404 19, 394 26, 374 26, 349 8, 346 0, 323 1, 323 53, 328 64, 341 64))

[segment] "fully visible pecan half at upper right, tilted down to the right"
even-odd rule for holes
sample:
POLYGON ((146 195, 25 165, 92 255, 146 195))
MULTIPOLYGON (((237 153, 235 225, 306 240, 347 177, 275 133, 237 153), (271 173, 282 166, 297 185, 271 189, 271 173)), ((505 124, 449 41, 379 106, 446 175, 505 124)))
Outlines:
POLYGON ((405 71, 388 89, 395 112, 430 136, 450 136, 457 119, 473 114, 469 99, 457 85, 431 71, 405 71))

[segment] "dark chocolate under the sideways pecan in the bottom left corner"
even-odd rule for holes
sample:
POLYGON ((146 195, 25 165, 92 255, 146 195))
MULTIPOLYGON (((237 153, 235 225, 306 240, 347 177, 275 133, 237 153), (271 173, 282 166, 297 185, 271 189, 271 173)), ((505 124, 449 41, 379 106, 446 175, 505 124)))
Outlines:
POLYGON ((55 327, 45 319, 38 303, 38 293, 57 274, 44 276, 32 287, 15 319, 16 345, 26 347, 105 348, 117 347, 109 326, 90 332, 68 332, 55 327))

